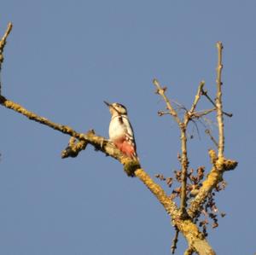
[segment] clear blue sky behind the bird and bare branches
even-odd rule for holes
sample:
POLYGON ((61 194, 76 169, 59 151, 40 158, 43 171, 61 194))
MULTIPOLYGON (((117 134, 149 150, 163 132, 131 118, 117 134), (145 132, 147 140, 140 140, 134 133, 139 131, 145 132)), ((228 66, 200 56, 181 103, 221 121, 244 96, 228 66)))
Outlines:
MULTIPOLYGON (((253 254, 255 236, 255 1, 2 1, 3 95, 57 123, 108 136, 103 100, 129 109, 137 150, 151 176, 177 169, 178 130, 153 78, 189 107, 204 79, 215 94, 215 43, 224 43, 227 157, 237 159, 218 195, 227 216, 209 241, 220 255, 253 254)), ((206 100, 199 105, 209 107, 206 100)), ((68 136, 0 107, 0 253, 170 254, 173 229, 154 196, 118 162, 92 148, 61 159, 68 136)), ((189 141, 190 165, 207 165, 204 135, 189 141)), ((212 125, 212 129, 216 127, 212 125)), ((191 133, 193 130, 191 128, 191 133)), ((163 184, 164 185, 164 184, 163 184)), ((171 189, 166 188, 170 193, 171 189)), ((186 247, 183 238, 177 254, 186 247)))

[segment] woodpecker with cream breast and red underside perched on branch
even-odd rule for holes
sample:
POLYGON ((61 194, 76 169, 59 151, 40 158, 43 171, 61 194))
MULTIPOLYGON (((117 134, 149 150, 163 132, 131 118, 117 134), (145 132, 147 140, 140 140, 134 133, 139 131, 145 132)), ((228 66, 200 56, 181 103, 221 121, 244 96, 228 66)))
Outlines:
POLYGON ((109 140, 116 148, 133 160, 139 161, 136 151, 134 132, 128 119, 127 109, 124 105, 114 102, 104 101, 111 113, 109 123, 109 140))

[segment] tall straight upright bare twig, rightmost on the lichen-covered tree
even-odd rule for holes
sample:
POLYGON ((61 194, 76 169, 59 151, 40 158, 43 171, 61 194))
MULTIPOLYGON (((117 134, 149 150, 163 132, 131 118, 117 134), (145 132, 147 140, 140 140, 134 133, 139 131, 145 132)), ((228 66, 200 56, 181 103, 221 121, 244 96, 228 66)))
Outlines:
POLYGON ((222 110, 222 82, 221 82, 221 72, 222 72, 222 49, 223 45, 221 42, 217 43, 218 49, 218 64, 216 68, 217 72, 217 96, 216 96, 216 110, 217 110, 217 120, 218 120, 218 158, 222 158, 224 154, 224 118, 222 110))

